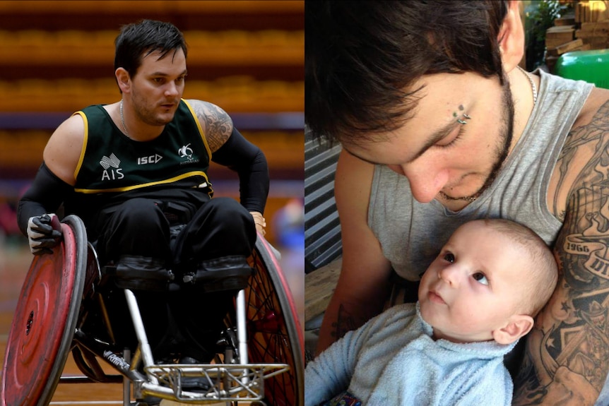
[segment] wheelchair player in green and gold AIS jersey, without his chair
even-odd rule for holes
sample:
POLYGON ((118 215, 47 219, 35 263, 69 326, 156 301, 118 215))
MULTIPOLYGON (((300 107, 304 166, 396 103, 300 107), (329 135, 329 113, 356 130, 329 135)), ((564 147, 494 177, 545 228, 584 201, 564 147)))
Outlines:
POLYGON ((61 238, 55 213, 81 217, 108 286, 136 294, 155 358, 204 363, 252 273, 269 179, 264 154, 223 109, 182 99, 186 59, 174 25, 124 26, 114 59, 121 100, 54 131, 18 224, 40 254, 61 238), (212 198, 210 160, 237 172, 240 203, 212 198))

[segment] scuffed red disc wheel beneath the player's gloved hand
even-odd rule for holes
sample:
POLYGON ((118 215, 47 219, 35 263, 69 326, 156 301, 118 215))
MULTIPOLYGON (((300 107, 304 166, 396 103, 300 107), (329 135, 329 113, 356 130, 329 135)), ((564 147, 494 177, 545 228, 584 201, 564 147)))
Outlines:
POLYGON ((1 406, 48 405, 66 364, 83 294, 86 232, 78 217, 61 224, 63 241, 35 256, 8 335, 1 406))

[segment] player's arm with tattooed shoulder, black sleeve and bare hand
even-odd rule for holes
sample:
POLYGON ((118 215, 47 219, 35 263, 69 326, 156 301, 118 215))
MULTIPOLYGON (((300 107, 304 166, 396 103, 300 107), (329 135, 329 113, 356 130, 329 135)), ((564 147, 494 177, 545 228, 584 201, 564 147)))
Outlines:
POLYGON ((211 160, 237 172, 241 204, 252 213, 256 229, 264 235, 262 213, 268 196, 268 166, 260 148, 247 141, 220 107, 201 100, 188 100, 199 119, 211 150, 211 160))

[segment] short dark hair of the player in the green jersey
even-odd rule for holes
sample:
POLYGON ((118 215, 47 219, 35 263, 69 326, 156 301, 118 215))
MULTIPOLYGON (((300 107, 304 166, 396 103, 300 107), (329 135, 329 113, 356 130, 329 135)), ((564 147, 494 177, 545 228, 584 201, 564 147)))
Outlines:
POLYGON ((141 66, 144 56, 160 52, 159 59, 178 49, 187 56, 187 44, 184 36, 175 25, 155 20, 141 20, 138 23, 124 25, 114 41, 114 70, 124 68, 133 78, 141 66))

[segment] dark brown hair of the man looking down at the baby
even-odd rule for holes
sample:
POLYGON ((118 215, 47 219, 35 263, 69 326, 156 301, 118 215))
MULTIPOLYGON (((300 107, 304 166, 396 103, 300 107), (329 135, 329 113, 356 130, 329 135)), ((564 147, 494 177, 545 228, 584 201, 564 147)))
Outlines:
POLYGON ((504 83, 498 35, 507 1, 305 2, 305 119, 317 136, 374 139, 399 128, 433 73, 504 83))

